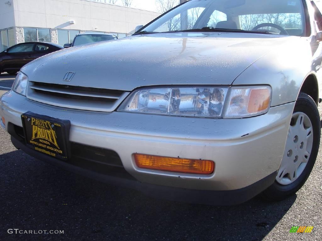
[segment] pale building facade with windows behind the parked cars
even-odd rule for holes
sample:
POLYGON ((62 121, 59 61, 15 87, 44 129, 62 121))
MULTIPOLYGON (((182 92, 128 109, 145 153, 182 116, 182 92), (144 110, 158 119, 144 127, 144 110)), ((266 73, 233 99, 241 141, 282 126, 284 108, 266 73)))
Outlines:
POLYGON ((90 0, 0 0, 0 52, 31 41, 64 45, 84 32, 123 38, 159 15, 90 0))

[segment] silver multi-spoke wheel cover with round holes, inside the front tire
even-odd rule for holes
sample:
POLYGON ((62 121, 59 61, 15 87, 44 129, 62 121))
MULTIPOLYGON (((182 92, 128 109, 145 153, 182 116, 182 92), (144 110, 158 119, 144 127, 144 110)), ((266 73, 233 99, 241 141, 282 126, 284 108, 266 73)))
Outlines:
POLYGON ((313 127, 303 112, 293 113, 285 151, 276 181, 289 185, 303 173, 311 155, 313 146, 313 127))

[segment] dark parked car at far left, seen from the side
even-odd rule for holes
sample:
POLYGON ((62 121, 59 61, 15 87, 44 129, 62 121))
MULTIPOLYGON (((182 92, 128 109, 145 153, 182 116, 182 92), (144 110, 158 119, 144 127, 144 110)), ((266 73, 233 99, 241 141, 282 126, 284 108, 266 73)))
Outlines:
POLYGON ((7 72, 14 75, 25 64, 60 49, 63 49, 63 47, 54 43, 28 42, 16 44, 0 53, 0 74, 7 72))

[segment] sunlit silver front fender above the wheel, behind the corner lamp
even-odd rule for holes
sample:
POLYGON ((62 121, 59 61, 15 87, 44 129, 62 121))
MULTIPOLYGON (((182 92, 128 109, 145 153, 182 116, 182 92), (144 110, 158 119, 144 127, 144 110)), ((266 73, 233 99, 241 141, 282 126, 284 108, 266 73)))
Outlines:
POLYGON ((233 82, 233 85, 270 85, 271 106, 295 102, 301 87, 312 71, 312 49, 308 38, 287 37, 279 45, 255 61, 233 82))

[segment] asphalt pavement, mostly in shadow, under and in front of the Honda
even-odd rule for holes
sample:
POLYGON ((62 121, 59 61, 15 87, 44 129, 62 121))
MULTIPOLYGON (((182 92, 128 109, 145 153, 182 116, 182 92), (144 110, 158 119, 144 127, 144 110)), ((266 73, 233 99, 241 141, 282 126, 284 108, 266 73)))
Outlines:
POLYGON ((164 201, 36 160, 16 150, 0 128, 0 240, 320 241, 321 181, 320 148, 307 183, 285 201, 255 197, 231 207, 164 201), (314 228, 308 234, 289 233, 292 226, 314 228), (8 229, 38 234, 9 234, 8 229))

